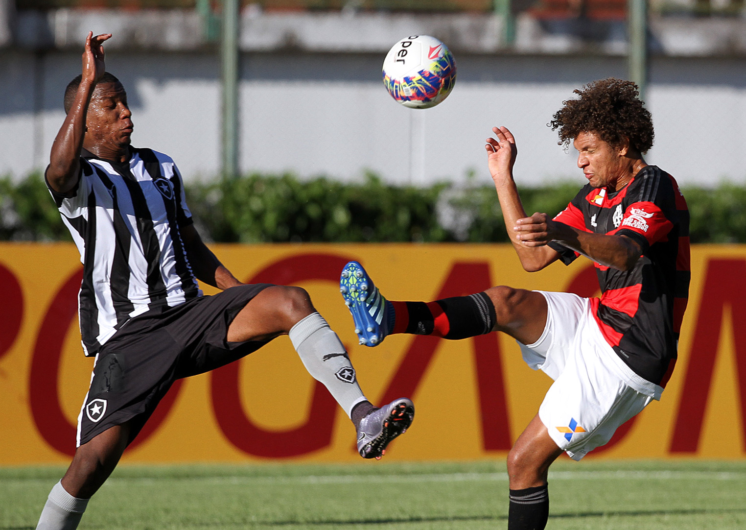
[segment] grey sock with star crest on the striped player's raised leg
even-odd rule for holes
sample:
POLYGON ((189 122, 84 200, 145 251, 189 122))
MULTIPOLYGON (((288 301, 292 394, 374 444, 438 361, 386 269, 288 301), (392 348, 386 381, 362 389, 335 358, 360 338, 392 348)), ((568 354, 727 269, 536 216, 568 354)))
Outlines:
POLYGON ((355 405, 366 401, 345 346, 324 317, 312 313, 292 326, 288 335, 308 373, 327 387, 348 416, 355 405))

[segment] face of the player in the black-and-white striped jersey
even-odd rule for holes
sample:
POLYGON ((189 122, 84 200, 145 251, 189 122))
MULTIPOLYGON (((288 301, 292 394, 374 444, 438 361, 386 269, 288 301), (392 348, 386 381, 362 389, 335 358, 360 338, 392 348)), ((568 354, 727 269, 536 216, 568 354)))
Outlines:
POLYGON ((87 140, 95 146, 118 151, 130 145, 134 125, 122 84, 96 85, 88 106, 86 127, 87 140))

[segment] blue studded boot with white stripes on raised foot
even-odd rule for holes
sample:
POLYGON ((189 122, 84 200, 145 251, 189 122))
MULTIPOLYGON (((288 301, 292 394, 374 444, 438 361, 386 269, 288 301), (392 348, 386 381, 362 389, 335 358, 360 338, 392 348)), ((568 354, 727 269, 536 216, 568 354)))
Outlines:
POLYGON ((360 344, 380 344, 394 327, 394 308, 357 261, 351 261, 342 269, 339 292, 352 314, 360 344))

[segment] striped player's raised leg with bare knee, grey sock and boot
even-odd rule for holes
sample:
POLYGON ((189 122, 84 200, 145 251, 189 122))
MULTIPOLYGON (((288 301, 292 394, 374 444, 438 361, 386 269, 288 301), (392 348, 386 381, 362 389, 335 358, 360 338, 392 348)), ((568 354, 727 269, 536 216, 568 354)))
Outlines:
POLYGON ((283 334, 289 335, 306 370, 325 384, 354 423, 360 456, 380 458, 389 442, 411 425, 412 402, 400 398, 377 409, 363 396, 345 347, 301 287, 267 287, 228 327, 229 342, 269 340, 283 334))

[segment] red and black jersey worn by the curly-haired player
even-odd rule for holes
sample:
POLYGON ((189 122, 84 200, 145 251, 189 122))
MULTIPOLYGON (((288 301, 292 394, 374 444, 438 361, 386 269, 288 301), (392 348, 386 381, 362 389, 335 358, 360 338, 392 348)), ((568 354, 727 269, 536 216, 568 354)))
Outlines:
MULTIPOLYGON (((591 299, 606 341, 633 372, 665 387, 689 296, 689 211, 671 175, 646 166, 615 193, 586 184, 556 221, 595 234, 625 235, 642 247, 627 272, 595 264, 601 299, 591 299)), ((565 264, 579 255, 559 243, 565 264)))

